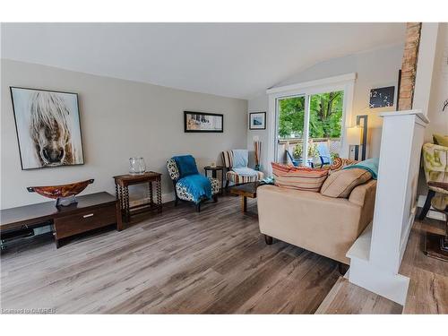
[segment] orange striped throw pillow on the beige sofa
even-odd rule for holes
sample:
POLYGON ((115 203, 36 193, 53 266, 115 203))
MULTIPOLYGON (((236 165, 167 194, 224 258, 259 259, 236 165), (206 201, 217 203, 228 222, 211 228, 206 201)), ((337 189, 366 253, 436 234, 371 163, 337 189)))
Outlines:
POLYGON ((294 167, 271 162, 275 185, 318 193, 328 176, 327 169, 294 167))

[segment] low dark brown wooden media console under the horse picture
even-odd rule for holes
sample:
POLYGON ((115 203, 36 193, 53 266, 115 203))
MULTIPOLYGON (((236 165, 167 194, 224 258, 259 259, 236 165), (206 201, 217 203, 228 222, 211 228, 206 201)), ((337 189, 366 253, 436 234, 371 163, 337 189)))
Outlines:
POLYGON ((77 203, 56 208, 55 202, 42 202, 1 211, 0 235, 23 228, 53 225, 56 247, 65 237, 116 224, 120 231, 123 223, 116 198, 108 193, 86 194, 76 197, 77 203))

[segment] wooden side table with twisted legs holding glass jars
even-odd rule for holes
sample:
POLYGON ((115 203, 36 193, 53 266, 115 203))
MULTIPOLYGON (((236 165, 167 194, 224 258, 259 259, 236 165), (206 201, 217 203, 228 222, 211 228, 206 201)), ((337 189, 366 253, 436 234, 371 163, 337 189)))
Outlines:
POLYGON ((120 209, 125 217, 125 220, 129 222, 131 220, 131 210, 139 211, 162 211, 162 191, 161 191, 161 174, 153 171, 146 172, 142 175, 119 175, 114 177, 116 188, 116 200, 120 204, 120 209), (143 204, 130 206, 129 205, 129 185, 148 184, 148 191, 150 200, 143 204), (154 189, 156 189, 156 195, 154 198, 154 189))

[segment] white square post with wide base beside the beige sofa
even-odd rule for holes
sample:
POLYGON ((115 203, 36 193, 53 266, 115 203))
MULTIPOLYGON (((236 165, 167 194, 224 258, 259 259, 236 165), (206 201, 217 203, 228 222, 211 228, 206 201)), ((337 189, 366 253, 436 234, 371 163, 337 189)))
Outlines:
POLYGON ((374 220, 347 254, 349 281, 404 305, 409 278, 398 271, 417 211, 420 153, 428 120, 421 110, 381 116, 374 220))

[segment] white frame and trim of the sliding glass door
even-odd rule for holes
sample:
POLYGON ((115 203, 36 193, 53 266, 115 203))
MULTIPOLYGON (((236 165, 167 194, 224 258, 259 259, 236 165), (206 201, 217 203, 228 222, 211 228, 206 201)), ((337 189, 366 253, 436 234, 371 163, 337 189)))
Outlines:
MULTIPOLYGON (((308 110, 309 99, 311 95, 317 93, 331 92, 331 91, 344 91, 344 99, 342 102, 342 120, 341 120, 341 138, 342 145, 340 148, 340 156, 342 158, 349 157, 349 144, 346 143, 347 128, 351 124, 352 109, 353 109, 353 97, 355 91, 355 81, 357 79, 357 73, 346 73, 340 76, 334 76, 324 78, 321 80, 300 82, 297 84, 286 85, 266 90, 269 96, 268 104, 268 148, 267 157, 268 162, 274 161, 276 151, 276 141, 278 133, 278 121, 277 116, 279 99, 285 99, 288 97, 305 96, 305 110, 308 110)), ((309 115, 305 113, 304 120, 304 139, 308 138, 308 125, 309 115)), ((304 153, 307 154, 308 142, 304 142, 304 153)), ((306 162, 306 159, 304 159, 306 162)), ((268 164, 266 169, 268 174, 272 174, 271 164, 268 164)))

